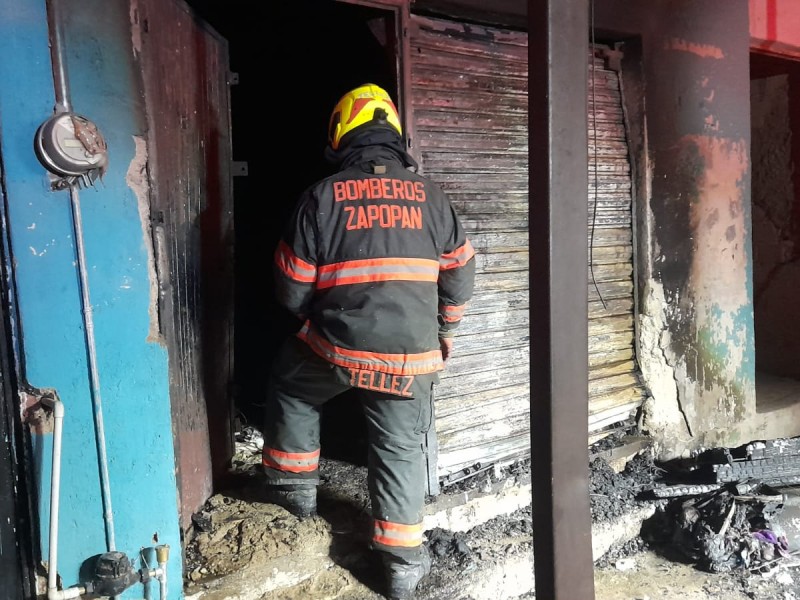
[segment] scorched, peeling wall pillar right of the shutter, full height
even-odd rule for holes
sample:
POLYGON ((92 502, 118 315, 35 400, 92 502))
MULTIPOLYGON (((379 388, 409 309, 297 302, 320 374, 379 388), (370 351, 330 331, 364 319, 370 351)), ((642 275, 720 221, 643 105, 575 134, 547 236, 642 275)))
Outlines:
POLYGON ((641 46, 627 81, 645 425, 665 455, 736 443, 755 402, 748 4, 608 0, 596 23, 641 46))

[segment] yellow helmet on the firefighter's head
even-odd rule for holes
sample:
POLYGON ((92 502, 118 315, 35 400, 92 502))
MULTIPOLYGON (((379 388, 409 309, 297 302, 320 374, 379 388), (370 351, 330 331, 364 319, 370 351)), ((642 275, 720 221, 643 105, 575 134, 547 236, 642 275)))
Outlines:
POLYGON ((337 150, 348 133, 362 125, 389 127, 403 134, 391 96, 374 83, 365 83, 341 97, 328 124, 328 142, 337 150))

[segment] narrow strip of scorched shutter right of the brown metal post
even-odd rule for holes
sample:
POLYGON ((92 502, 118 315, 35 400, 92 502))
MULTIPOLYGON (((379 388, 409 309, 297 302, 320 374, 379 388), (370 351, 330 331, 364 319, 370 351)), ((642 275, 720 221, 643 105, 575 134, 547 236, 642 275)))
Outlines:
MULTIPOLYGON (((632 185, 620 77, 589 68, 589 432, 627 419, 646 393, 636 364, 632 185)), ((611 53, 614 54, 613 52, 611 53)))

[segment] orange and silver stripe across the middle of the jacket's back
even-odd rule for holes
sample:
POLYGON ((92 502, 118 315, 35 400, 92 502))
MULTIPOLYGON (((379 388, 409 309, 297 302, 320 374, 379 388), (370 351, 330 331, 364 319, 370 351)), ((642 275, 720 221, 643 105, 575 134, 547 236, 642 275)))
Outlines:
POLYGON ((317 288, 373 281, 429 281, 439 278, 439 262, 425 258, 370 258, 319 268, 317 288))

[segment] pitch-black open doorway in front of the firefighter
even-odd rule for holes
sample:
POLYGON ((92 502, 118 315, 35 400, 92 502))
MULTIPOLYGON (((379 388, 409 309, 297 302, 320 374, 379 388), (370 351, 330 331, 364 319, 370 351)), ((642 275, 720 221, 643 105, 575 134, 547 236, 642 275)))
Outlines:
MULTIPOLYGON (((332 0, 189 4, 228 40, 238 75, 233 156, 249 174, 234 179, 235 404, 260 429, 270 365, 301 325, 275 302, 272 254, 299 195, 331 173, 323 150, 339 97, 369 81, 397 98, 394 13, 332 0)), ((323 455, 362 456, 353 398, 330 402, 323 421, 323 455)))

